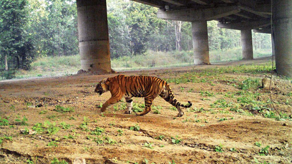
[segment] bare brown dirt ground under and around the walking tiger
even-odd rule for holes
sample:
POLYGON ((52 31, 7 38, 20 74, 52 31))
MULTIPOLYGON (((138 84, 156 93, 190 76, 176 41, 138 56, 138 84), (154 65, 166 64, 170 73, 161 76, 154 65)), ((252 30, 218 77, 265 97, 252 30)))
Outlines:
MULTIPOLYGON (((210 68, 261 64, 267 61, 269 60, 263 59, 209 66, 126 71, 121 74, 175 79, 187 72, 205 72, 210 68)), ((193 104, 191 109, 183 108, 183 117, 177 117, 178 111, 172 110, 172 106, 161 97, 157 97, 153 104, 161 112, 159 114, 154 114, 154 110, 145 116, 124 114, 124 102, 112 105, 101 113, 95 105, 105 102, 110 93, 98 96, 94 93, 95 85, 103 78, 118 74, 0 82, 0 116, 9 121, 9 125, 0 125, 0 137, 12 136, 11 139, 2 138, 0 163, 29 163, 27 160, 33 163, 51 163, 53 158, 72 163, 72 160, 79 156, 85 158, 86 163, 141 164, 147 163, 145 159, 156 164, 173 163, 172 161, 176 164, 257 163, 257 160, 258 163, 292 162, 291 118, 277 121, 261 113, 251 111, 252 115, 242 114, 230 110, 231 107, 210 105, 222 99, 236 102, 238 95, 228 95, 240 91, 237 86, 241 81, 246 78, 261 79, 267 72, 206 74, 198 75, 197 78, 201 82, 170 82, 173 93, 181 103, 185 104, 190 100, 193 104), (201 91, 214 94, 208 95, 201 91), (72 107, 74 111, 58 112, 56 105, 69 107, 67 109, 72 107), (15 121, 22 120, 23 116, 27 118, 27 125, 15 121), (45 121, 55 122, 60 130, 55 134, 49 134, 46 128, 43 128, 44 132, 37 134, 20 132, 20 129, 32 129, 35 124, 44 124, 45 121), (73 126, 63 129, 61 122, 73 126), (130 130, 130 127, 136 124, 140 126, 140 130, 130 130), (94 135, 91 132, 96 127, 105 131, 94 135), (123 134, 118 130, 122 130, 123 134), (178 144, 172 142, 175 136, 181 140, 178 144), (103 143, 98 144, 94 137, 102 139, 103 143), (116 143, 107 143, 109 138, 116 143), (151 143, 153 148, 147 147, 147 144, 145 146, 145 142, 151 143), (256 142, 262 145, 256 146, 256 142), (57 146, 48 146, 49 143, 55 143, 57 146), (223 152, 215 151, 215 146, 219 145, 222 145, 223 152), (266 146, 270 146, 268 153, 261 156, 260 150, 266 146)), ((276 102, 275 106, 280 112, 291 117, 291 80, 275 76, 274 81, 276 89, 272 91, 272 97, 276 102)), ((252 92, 259 93, 255 101, 269 101, 267 91, 256 88, 252 92)), ((134 98, 133 101, 140 104, 144 102, 142 98, 134 98)))

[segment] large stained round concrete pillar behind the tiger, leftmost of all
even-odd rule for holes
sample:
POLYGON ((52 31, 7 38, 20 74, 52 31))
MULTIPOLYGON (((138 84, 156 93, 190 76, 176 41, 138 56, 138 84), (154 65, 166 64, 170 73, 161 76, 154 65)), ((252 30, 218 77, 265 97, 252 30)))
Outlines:
POLYGON ((111 71, 106 0, 77 0, 81 69, 111 71))

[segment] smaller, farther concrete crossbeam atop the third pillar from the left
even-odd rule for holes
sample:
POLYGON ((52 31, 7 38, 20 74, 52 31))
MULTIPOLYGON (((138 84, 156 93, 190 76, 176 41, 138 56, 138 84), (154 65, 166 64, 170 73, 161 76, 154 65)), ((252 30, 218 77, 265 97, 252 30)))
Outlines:
POLYGON ((260 20, 252 22, 236 22, 236 23, 218 23, 217 27, 225 29, 236 29, 236 30, 246 30, 246 29, 258 29, 271 25, 269 20, 260 20))

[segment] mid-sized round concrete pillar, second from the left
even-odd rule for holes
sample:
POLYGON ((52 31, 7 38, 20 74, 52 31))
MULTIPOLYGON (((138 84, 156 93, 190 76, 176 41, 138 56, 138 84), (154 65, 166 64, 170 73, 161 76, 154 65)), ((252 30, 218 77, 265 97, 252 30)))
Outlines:
POLYGON ((194 64, 210 64, 207 21, 192 22, 194 64))

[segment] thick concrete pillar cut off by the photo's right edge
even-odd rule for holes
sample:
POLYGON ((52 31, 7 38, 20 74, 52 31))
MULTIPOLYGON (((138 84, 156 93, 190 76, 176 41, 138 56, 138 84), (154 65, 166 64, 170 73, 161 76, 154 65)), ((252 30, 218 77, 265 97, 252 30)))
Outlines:
POLYGON ((292 77, 292 0, 273 1, 276 70, 292 77))

